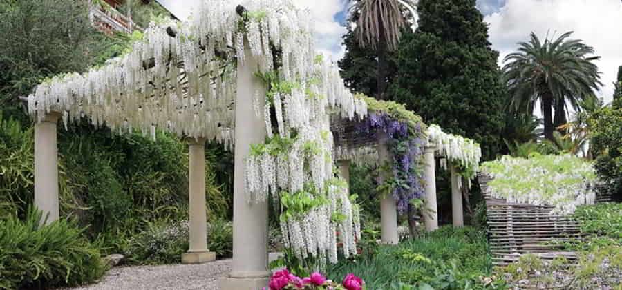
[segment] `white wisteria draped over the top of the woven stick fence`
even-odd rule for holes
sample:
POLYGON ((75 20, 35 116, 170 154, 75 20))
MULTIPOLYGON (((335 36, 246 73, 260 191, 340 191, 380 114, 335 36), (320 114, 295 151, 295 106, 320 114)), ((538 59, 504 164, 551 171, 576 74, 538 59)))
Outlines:
POLYGON ((569 214, 596 199, 592 164, 572 155, 503 156, 481 168, 493 178, 487 194, 508 202, 554 206, 552 213, 569 214))

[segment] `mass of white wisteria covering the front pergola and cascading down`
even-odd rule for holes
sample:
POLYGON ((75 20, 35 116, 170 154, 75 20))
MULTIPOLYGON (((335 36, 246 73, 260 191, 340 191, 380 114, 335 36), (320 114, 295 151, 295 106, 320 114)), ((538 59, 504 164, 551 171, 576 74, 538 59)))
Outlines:
POLYGON ((266 104, 255 101, 255 110, 270 141, 249 148, 249 202, 270 195, 284 205, 288 197, 306 202, 281 213, 283 235, 301 258, 336 262, 336 231, 343 253, 356 253, 357 206, 347 184, 329 182, 335 180, 329 115, 361 118, 367 104, 353 97, 335 64, 317 55, 311 13, 290 0, 205 0, 194 15, 184 23, 151 23, 130 52, 100 68, 44 81, 28 97, 30 115, 40 121, 61 112, 65 124, 88 116, 113 131, 155 135, 161 128, 233 146, 236 62, 254 58, 268 91, 254 96, 266 104))

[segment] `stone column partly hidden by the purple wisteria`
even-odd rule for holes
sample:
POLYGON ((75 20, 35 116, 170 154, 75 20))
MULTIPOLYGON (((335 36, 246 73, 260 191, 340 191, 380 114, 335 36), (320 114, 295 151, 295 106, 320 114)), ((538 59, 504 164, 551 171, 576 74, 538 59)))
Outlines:
MULTIPOLYGON (((386 133, 379 133, 378 137, 378 159, 380 166, 386 162, 390 162, 391 156, 386 147, 386 133)), ((384 173, 379 175, 378 184, 382 184, 384 173)), ((397 244, 399 236, 397 235, 397 202, 391 193, 386 193, 384 198, 380 199, 380 226, 381 226, 381 242, 383 244, 397 244)))

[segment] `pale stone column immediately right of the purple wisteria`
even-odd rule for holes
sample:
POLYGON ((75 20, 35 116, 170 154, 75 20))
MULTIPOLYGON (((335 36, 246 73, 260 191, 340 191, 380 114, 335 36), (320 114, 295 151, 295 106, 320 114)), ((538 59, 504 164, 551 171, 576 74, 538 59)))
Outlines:
POLYGON ((436 174, 435 174, 435 162, 434 152, 436 148, 434 146, 426 146, 424 149, 424 180, 426 182, 426 200, 424 209, 424 223, 426 224, 426 231, 434 231, 438 229, 438 211, 436 206, 436 174))

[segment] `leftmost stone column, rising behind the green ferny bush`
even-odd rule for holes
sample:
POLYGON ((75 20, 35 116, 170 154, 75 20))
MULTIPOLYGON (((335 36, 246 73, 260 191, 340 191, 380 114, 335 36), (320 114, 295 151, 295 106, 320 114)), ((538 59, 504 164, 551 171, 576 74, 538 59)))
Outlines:
POLYGON ((50 112, 35 124, 35 206, 43 212, 46 224, 59 217, 56 135, 59 117, 60 113, 50 112))

